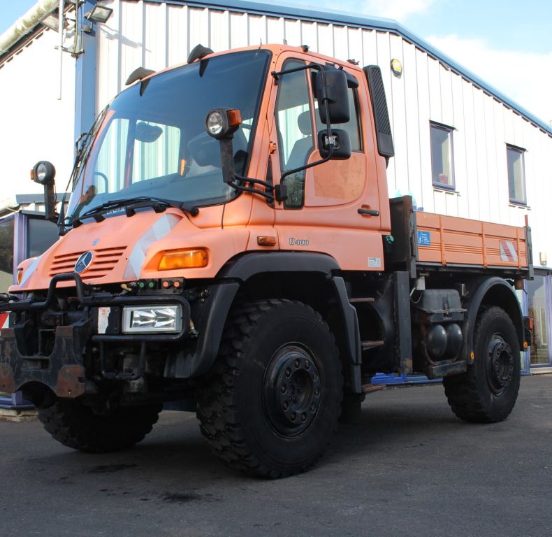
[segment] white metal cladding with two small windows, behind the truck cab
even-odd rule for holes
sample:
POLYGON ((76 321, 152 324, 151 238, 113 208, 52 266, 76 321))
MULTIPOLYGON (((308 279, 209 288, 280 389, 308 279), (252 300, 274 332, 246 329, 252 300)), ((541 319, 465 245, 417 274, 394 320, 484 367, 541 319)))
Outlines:
POLYGON ((136 67, 159 70, 185 62, 198 43, 215 52, 258 43, 307 44, 361 65, 379 64, 396 153, 388 167, 390 196, 412 193, 425 210, 504 224, 523 225, 529 214, 534 251, 552 251, 546 224, 539 224, 549 210, 552 138, 403 36, 221 6, 128 0, 110 6, 112 17, 99 25, 97 109, 124 88, 136 67), (391 73, 393 58, 402 62, 400 78, 391 73), (454 129, 454 192, 432 185, 430 121, 454 129), (509 203, 507 143, 527 150, 527 207, 509 203))

